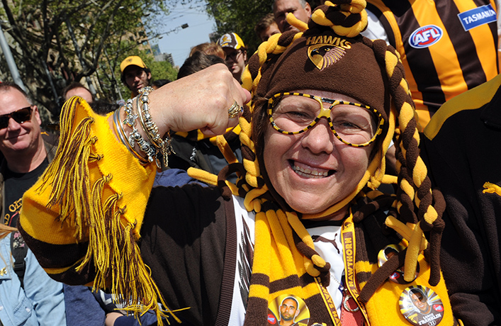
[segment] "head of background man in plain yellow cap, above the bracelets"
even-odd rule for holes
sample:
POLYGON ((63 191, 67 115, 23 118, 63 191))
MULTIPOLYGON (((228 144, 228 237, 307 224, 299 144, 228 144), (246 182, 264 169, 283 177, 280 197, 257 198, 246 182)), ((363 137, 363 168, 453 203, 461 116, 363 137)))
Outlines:
POLYGON ((137 96, 140 89, 150 86, 152 72, 137 55, 126 57, 120 64, 120 72, 122 72, 120 80, 132 92, 130 97, 137 96))

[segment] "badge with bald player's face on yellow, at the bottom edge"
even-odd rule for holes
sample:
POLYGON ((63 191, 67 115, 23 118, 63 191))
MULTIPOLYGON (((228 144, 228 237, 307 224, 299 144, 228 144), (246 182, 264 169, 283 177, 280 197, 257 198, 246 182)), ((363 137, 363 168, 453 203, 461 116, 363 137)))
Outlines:
POLYGON ((306 326, 310 310, 303 299, 292 294, 277 296, 268 304, 268 325, 306 326))

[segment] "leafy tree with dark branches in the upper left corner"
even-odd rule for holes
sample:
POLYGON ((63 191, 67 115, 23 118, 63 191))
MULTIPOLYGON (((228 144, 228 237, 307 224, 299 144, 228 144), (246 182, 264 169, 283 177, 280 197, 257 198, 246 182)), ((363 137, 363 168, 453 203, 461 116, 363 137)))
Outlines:
POLYGON ((23 83, 55 118, 64 86, 84 77, 91 77, 99 94, 116 100, 110 90, 120 83, 120 75, 117 83, 112 73, 117 58, 141 46, 144 24, 166 13, 172 1, 1 0, 0 24, 23 83))

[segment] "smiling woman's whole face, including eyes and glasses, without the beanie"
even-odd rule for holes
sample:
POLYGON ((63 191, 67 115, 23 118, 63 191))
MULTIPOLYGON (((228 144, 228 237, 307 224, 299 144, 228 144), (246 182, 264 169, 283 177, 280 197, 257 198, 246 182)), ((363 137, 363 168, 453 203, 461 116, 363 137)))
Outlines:
MULTIPOLYGON (((327 96, 336 101, 356 101, 326 91, 307 92, 325 102, 330 101, 327 96)), ((274 107, 270 118, 274 129, 269 125, 264 135, 264 167, 288 206, 300 213, 321 213, 347 197, 364 176, 378 121, 375 116, 372 120, 368 109, 344 104, 331 106, 324 113, 325 119, 317 118, 321 112, 319 100, 305 100, 309 99, 288 96, 274 107), (303 130, 309 131, 301 133, 303 130)), ((341 220, 346 213, 344 208, 330 218, 341 220)))

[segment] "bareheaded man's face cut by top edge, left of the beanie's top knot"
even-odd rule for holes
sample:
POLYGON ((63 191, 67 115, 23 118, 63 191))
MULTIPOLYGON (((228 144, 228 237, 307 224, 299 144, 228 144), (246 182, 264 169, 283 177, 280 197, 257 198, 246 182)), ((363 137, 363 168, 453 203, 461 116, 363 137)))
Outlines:
POLYGON ((288 13, 292 13, 295 18, 298 18, 298 21, 307 24, 311 16, 311 7, 306 0, 275 0, 273 3, 273 14, 278 30, 281 33, 286 30, 298 31, 298 28, 295 28, 286 21, 288 13))

